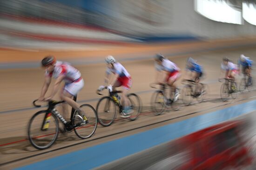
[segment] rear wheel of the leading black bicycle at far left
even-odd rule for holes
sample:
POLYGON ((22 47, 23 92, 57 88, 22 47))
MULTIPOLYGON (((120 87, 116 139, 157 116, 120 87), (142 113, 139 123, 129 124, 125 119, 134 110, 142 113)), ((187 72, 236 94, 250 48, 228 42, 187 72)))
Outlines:
POLYGON ((81 117, 81 115, 78 114, 77 111, 74 113, 73 117, 73 125, 76 126, 76 124, 80 124, 78 127, 74 127, 74 132, 75 134, 82 138, 86 139, 91 137, 94 132, 96 131, 97 128, 97 114, 96 111, 94 110, 93 106, 85 104, 80 106, 81 110, 84 111, 85 117, 87 118, 87 123, 82 123, 84 119, 81 117))

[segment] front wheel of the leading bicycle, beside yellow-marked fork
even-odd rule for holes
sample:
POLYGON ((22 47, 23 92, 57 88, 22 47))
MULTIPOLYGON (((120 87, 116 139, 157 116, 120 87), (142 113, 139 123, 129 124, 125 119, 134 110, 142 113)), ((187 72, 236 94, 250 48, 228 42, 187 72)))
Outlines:
POLYGON ((38 111, 28 123, 28 139, 36 149, 47 149, 56 141, 59 122, 54 114, 38 111))

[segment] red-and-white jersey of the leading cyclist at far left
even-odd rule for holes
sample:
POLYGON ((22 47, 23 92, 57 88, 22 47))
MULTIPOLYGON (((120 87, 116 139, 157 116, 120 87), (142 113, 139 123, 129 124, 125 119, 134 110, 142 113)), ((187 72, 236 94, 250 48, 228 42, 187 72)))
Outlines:
POLYGON ((57 61, 53 72, 46 72, 46 76, 58 78, 61 75, 65 75, 63 79, 66 83, 72 83, 81 77, 79 70, 74 68, 67 62, 57 61))

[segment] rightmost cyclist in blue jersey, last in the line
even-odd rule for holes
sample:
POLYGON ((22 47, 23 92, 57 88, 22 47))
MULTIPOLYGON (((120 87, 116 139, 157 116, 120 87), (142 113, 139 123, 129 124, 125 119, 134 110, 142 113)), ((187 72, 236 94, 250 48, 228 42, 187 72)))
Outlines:
POLYGON ((251 76, 251 66, 252 66, 252 60, 250 60, 249 57, 245 57, 243 54, 241 54, 241 56, 239 57, 239 60, 238 60, 239 74, 241 73, 241 70, 242 70, 244 77, 246 74, 250 77, 251 76))

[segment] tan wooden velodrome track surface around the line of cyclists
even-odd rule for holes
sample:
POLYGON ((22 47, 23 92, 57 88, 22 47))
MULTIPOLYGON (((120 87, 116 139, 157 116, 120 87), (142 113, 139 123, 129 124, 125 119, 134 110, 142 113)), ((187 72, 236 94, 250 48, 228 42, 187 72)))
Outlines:
MULTIPOLYGON (((189 43, 185 45, 158 44, 156 46, 143 46, 143 48, 117 47, 113 52, 108 49, 94 53, 2 50, 1 62, 7 62, 7 56, 9 57, 9 61, 22 61, 23 58, 24 61, 29 61, 29 59, 36 61, 49 53, 53 53, 58 59, 62 60, 70 60, 70 58, 67 57, 72 54, 74 54, 74 58, 77 60, 91 59, 88 58, 88 56, 90 56, 90 54, 94 55, 96 59, 102 59, 102 63, 76 65, 76 67, 81 71, 82 77, 85 80, 85 86, 79 93, 78 101, 80 104, 88 103, 95 107, 98 98, 101 97, 95 93, 95 90, 103 82, 105 72, 104 56, 110 54, 110 52, 111 54, 113 53, 114 56, 116 55, 117 59, 122 59, 122 55, 124 56, 123 58, 125 58, 129 55, 132 56, 133 53, 136 55, 149 55, 149 53, 151 53, 151 56, 153 56, 155 52, 175 53, 186 51, 188 48, 191 51, 203 49, 203 47, 214 48, 213 44, 210 46, 206 44, 207 43, 191 43, 190 45, 189 43), (176 48, 173 48, 173 46, 176 46, 176 48), (187 46, 187 49, 185 49, 185 46, 187 46), (126 56, 124 54, 126 54, 126 56), (81 58, 83 55, 87 57, 81 58), (101 55, 102 57, 100 57, 101 55)), ((232 46, 232 43, 230 43, 230 46, 232 46)), ((235 100, 223 103, 220 99, 221 83, 218 82, 218 76, 222 57, 229 56, 230 59, 234 59, 236 62, 238 56, 243 53, 251 59, 256 60, 256 50, 254 47, 255 46, 242 46, 224 50, 192 53, 191 56, 198 60, 199 64, 203 66, 206 72, 206 77, 202 81, 209 85, 206 101, 201 104, 182 107, 180 111, 166 112, 161 116, 154 116, 149 109, 150 97, 153 92, 149 84, 154 81, 155 76, 153 59, 123 61, 121 63, 127 68, 133 78, 131 92, 139 94, 143 103, 141 116, 133 122, 118 118, 118 120, 109 127, 101 127, 101 125, 98 125, 94 136, 86 140, 81 140, 76 137, 73 132, 66 135, 61 134, 57 142, 50 149, 41 151, 35 150, 26 140, 26 130, 28 120, 36 111, 41 110, 33 108, 31 103, 34 99, 39 97, 44 71, 40 68, 0 70, 0 169, 13 169, 70 151, 87 148, 115 138, 253 100, 256 97, 254 90, 249 93, 241 93, 235 100)), ((182 73, 184 73, 185 61, 188 56, 190 55, 183 53, 179 56, 171 56, 169 59, 175 62, 182 69, 182 73)), ((177 82, 179 86, 181 86, 180 80, 177 82)), ((57 95, 56 99, 58 99, 57 95)))

